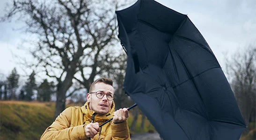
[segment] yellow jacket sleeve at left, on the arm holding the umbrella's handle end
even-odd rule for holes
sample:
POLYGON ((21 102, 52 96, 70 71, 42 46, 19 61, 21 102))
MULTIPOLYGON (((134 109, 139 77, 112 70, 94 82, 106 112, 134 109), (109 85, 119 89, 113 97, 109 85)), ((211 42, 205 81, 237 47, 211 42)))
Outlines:
POLYGON ((41 136, 40 140, 87 140, 85 125, 70 127, 72 109, 66 108, 41 136))

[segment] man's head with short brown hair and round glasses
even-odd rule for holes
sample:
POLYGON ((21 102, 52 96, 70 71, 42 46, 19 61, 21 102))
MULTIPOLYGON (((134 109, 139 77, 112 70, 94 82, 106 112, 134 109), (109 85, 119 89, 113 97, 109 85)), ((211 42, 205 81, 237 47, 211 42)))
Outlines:
POLYGON ((98 78, 93 82, 89 93, 86 96, 90 110, 95 111, 101 115, 110 111, 111 105, 113 103, 111 97, 114 96, 114 88, 112 85, 113 81, 105 77, 98 78))

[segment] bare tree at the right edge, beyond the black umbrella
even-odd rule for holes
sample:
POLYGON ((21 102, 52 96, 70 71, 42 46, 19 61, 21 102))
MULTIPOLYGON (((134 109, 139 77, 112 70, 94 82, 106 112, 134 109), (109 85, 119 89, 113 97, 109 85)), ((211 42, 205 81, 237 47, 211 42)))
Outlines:
POLYGON ((231 87, 246 125, 256 106, 256 45, 238 50, 226 62, 231 87))

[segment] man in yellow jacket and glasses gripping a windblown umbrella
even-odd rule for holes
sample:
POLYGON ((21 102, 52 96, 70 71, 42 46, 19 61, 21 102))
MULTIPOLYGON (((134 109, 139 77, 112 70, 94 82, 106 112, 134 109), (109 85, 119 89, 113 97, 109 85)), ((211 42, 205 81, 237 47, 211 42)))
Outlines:
POLYGON ((115 112, 113 82, 99 78, 91 85, 82 107, 68 107, 43 133, 41 140, 131 140, 126 108, 115 112), (99 125, 111 119, 109 123, 99 125))

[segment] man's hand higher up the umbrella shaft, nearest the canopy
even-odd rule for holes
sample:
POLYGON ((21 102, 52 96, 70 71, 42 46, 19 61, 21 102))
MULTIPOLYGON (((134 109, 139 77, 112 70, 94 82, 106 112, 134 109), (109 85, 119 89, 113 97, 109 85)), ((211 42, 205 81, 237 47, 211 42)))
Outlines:
POLYGON ((114 112, 114 118, 112 121, 114 124, 118 124, 123 122, 128 117, 129 117, 129 111, 127 110, 127 108, 123 108, 123 109, 121 108, 116 112, 114 112))

